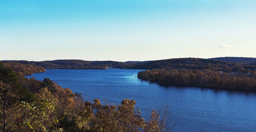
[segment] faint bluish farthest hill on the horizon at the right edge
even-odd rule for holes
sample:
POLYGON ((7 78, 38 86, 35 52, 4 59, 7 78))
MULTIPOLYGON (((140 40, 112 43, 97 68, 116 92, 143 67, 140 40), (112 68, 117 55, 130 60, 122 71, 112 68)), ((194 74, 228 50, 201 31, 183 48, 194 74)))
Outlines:
POLYGON ((211 60, 220 60, 226 62, 237 62, 241 64, 249 64, 256 62, 256 58, 252 57, 218 57, 218 58, 209 58, 211 60))

